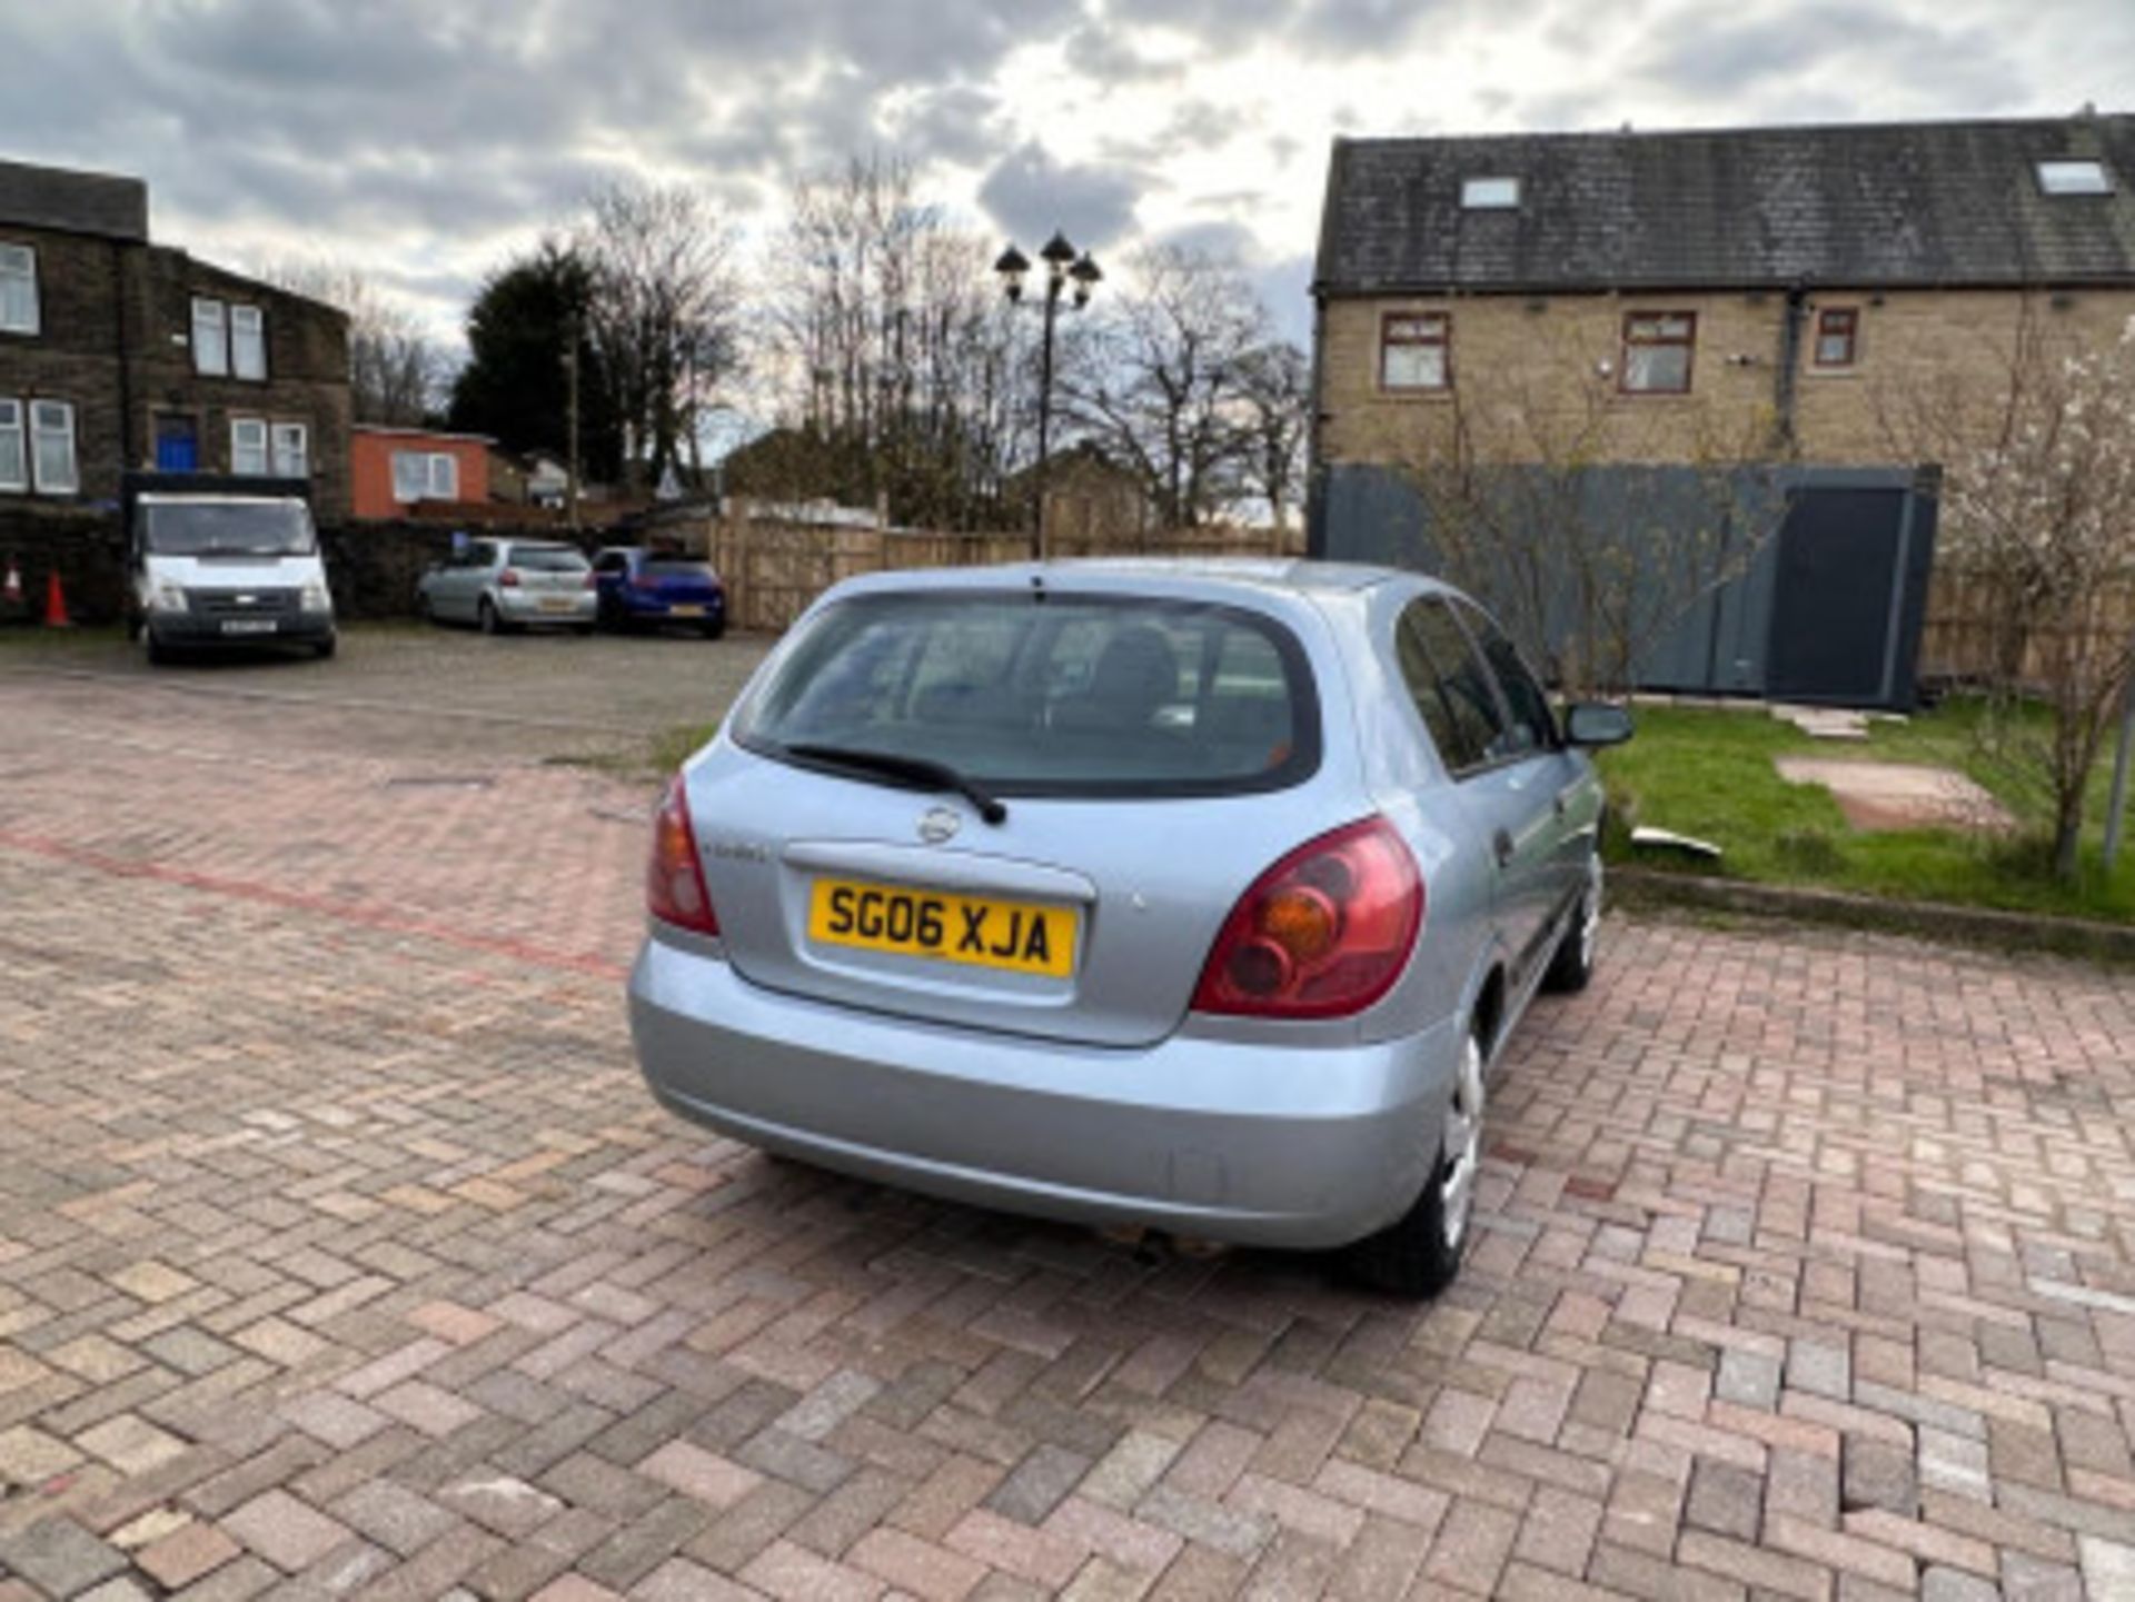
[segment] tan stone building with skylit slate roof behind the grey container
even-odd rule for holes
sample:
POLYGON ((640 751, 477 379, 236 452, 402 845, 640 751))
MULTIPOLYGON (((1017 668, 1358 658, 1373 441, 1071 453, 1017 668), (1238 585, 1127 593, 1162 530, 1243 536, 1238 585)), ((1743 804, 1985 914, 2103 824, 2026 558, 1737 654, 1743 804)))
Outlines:
POLYGON ((1951 463, 2026 343, 2135 316, 2131 186, 2090 111, 1339 141, 1315 516, 1452 459, 1951 463))

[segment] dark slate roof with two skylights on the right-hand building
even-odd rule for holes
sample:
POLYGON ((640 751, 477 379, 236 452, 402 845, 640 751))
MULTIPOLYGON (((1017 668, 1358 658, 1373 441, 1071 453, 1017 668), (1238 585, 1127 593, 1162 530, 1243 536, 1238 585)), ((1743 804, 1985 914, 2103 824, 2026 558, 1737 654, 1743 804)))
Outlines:
POLYGON ((1339 139, 1315 292, 2135 284, 2135 115, 1339 139), (2035 164, 2097 158, 2109 196, 2035 164), (1516 211, 1462 211, 1518 177, 1516 211))

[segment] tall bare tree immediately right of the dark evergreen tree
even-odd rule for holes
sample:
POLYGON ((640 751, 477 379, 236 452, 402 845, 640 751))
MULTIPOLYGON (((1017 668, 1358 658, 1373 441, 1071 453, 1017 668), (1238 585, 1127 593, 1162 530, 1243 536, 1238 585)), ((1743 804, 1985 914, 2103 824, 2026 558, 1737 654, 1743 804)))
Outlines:
POLYGON ((658 482, 696 465, 698 418, 741 363, 732 230, 700 190, 613 183, 587 201, 576 247, 594 269, 589 333, 615 384, 630 465, 658 482))

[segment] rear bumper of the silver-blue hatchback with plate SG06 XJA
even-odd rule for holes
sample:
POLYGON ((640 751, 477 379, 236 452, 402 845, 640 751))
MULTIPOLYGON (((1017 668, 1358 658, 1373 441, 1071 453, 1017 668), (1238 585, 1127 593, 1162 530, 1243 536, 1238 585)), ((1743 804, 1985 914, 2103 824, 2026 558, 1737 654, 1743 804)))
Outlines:
POLYGON ((1407 1212, 1460 1045, 1452 1024, 1334 1050, 1035 1041, 786 996, 660 934, 630 1028, 668 1109, 752 1146, 982 1207, 1283 1248, 1407 1212))

